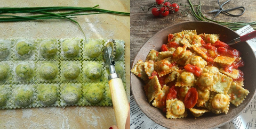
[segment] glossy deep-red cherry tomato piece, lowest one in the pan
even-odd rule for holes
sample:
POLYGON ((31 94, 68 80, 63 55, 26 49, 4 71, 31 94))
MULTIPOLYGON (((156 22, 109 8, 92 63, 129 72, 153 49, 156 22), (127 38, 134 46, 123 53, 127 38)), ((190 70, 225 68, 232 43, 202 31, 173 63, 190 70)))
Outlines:
POLYGON ((184 99, 184 105, 186 108, 193 108, 196 105, 198 99, 198 93, 196 88, 190 88, 184 99))

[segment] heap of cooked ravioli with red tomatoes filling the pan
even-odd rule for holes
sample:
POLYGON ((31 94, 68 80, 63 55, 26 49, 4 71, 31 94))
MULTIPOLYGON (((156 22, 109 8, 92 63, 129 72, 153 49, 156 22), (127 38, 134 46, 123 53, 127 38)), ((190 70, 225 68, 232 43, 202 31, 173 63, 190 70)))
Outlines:
POLYGON ((149 103, 170 119, 185 118, 187 112, 195 117, 210 111, 227 114, 230 105, 241 105, 249 91, 243 88, 238 50, 220 41, 219 34, 196 30, 166 38, 160 51, 150 50, 131 70, 145 82, 141 87, 149 103))

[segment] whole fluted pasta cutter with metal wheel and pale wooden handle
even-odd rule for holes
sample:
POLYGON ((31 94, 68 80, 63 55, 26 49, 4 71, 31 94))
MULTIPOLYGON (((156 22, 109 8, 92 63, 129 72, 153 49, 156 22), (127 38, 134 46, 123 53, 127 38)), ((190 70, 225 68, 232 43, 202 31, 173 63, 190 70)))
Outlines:
POLYGON ((115 40, 110 39, 105 43, 104 61, 109 69, 108 84, 115 111, 116 124, 118 128, 125 128, 126 118, 129 112, 129 103, 124 90, 123 82, 115 71, 114 48, 115 40))

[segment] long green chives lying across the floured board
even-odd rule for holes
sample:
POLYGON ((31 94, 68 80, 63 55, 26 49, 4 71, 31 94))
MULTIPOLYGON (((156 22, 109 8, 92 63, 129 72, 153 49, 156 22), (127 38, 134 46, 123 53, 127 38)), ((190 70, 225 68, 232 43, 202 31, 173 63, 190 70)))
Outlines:
MULTIPOLYGON (((29 20, 49 20, 49 19, 67 19, 78 25, 84 34, 79 23, 72 18, 76 18, 78 15, 91 15, 91 14, 116 14, 130 16, 129 12, 118 12, 111 10, 103 10, 96 8, 99 5, 93 7, 72 7, 72 6, 52 6, 52 7, 0 7, 0 22, 17 22, 17 21, 29 21, 29 20), (56 11, 62 11, 62 13, 53 13, 56 11), (82 13, 90 12, 90 13, 82 13), (18 15, 4 15, 4 13, 11 14, 23 14, 23 13, 39 13, 37 15, 18 16, 18 15)), ((85 34, 84 34, 85 36, 85 34)))

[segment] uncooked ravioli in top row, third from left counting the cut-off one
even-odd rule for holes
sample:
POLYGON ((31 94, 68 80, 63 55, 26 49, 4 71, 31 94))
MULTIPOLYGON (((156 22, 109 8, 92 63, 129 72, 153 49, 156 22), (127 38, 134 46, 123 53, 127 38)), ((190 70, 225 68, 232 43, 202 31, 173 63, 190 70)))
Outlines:
POLYGON ((60 43, 57 39, 37 39, 38 60, 58 60, 60 57, 60 43))

